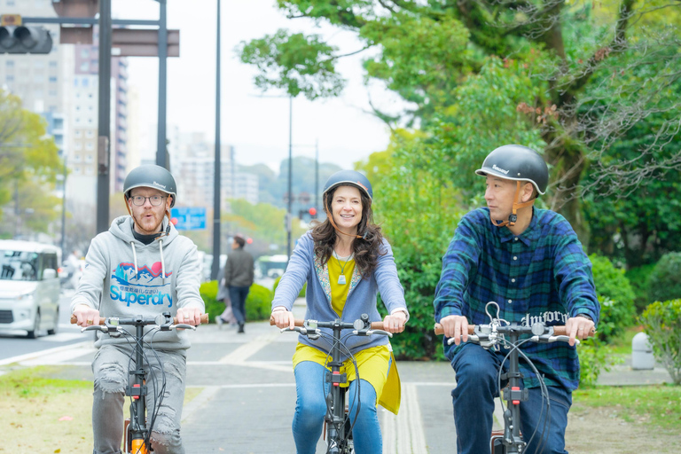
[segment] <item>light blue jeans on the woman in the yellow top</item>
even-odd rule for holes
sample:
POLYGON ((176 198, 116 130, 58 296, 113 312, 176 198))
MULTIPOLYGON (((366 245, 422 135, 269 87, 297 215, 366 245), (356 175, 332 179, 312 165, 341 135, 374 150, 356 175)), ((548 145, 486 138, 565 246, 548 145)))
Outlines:
MULTIPOLYGON (((331 387, 325 382, 326 369, 323 365, 312 361, 303 361, 295 366, 295 402, 294 441, 298 454, 314 454, 317 441, 322 434, 324 416, 326 414, 326 395, 331 387)), ((356 454, 376 454, 383 451, 383 440, 380 436, 379 417, 376 413, 376 391, 366 380, 360 381, 359 415, 352 437, 356 454)), ((348 392, 349 418, 355 419, 356 380, 350 383, 348 392)))

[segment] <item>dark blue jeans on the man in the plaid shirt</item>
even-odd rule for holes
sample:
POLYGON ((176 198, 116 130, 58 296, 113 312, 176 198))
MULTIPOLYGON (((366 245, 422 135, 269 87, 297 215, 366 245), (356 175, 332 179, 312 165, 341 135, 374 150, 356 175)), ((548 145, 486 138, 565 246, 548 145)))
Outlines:
MULTIPOLYGON (((459 454, 489 453, 494 398, 499 395, 497 372, 504 356, 502 352, 489 351, 468 343, 458 350, 451 361, 457 374, 457 387, 451 391, 451 397, 459 454)), ((504 369, 507 369, 507 364, 505 363, 504 369)), ((544 443, 542 432, 546 421, 546 404, 543 403, 540 388, 530 388, 528 401, 521 403, 521 431, 525 442, 529 442, 536 429, 525 452, 539 454, 536 452, 537 446, 543 444, 542 453, 567 454, 565 429, 568 427, 572 393, 562 387, 547 388, 551 402, 551 419, 546 427, 544 443)))

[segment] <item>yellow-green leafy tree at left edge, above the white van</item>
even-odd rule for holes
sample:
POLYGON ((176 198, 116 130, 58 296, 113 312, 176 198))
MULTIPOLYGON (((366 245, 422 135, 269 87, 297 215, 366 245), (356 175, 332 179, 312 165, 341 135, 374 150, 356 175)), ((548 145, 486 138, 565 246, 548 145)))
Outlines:
MULTIPOLYGON (((0 218, 12 202, 9 209, 21 216, 22 231, 15 234, 46 232, 60 214, 51 191, 63 165, 44 123, 21 107, 20 98, 0 89, 0 218)), ((3 231, 7 235, 13 229, 4 225, 3 231)))

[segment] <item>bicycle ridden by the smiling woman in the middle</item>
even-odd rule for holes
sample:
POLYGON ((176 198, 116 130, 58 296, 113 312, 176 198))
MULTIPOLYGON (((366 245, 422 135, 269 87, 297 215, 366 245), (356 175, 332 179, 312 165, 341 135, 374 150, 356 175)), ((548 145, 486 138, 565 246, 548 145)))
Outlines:
MULTIPOLYGON (((274 325, 274 320, 270 319, 270 325, 274 325)), ((350 421, 348 414, 348 406, 346 404, 346 390, 347 387, 341 385, 348 384, 348 377, 345 373, 340 373, 340 366, 343 363, 339 360, 340 353, 345 348, 345 353, 352 358, 352 354, 345 347, 343 337, 341 337, 342 330, 353 330, 349 335, 356 336, 371 336, 372 334, 384 335, 393 337, 392 333, 383 331, 383 322, 369 322, 369 316, 362 314, 360 318, 353 323, 343 322, 336 319, 333 322, 319 322, 317 320, 299 320, 294 322, 294 329, 282 328, 281 333, 297 332, 310 339, 315 340, 320 336, 325 336, 330 339, 332 348, 329 350, 327 365, 331 367, 330 372, 326 372, 325 383, 331 383, 332 387, 329 394, 326 395, 326 414, 324 418, 325 441, 327 454, 352 454, 355 452, 354 443, 352 440, 352 428, 355 426, 355 420, 350 421), (333 330, 333 335, 323 332, 320 328, 330 328, 333 330)), ((354 362, 354 360, 353 360, 354 362)), ((356 364, 355 364, 356 368, 356 364)), ((357 380, 359 374, 356 375, 357 380)), ((359 386, 359 382, 357 382, 359 386)), ((358 399, 356 400, 358 403, 358 399)), ((357 409, 359 412, 359 409, 357 409)))

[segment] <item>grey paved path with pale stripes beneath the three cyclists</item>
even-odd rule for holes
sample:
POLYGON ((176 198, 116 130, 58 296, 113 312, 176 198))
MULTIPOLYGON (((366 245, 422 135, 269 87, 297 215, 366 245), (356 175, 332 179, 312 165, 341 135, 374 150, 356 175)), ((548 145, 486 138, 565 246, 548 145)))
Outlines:
MULTIPOLYGON (((304 300, 296 301, 294 314, 304 317, 304 300)), ((298 336, 279 333, 267 322, 247 323, 245 334, 236 331, 229 325, 222 329, 204 325, 190 333, 186 385, 200 392, 184 406, 185 449, 188 453, 294 453, 291 422, 295 381, 291 357, 298 336)), ((95 348, 86 340, 48 355, 22 356, 18 361, 23 366, 59 364, 64 366, 60 378, 91 380, 94 354, 95 348)), ((400 361, 397 368, 402 381, 399 414, 395 416, 379 407, 383 452, 455 452, 450 392, 456 380, 450 364, 400 361)), ((629 364, 615 365, 599 377, 599 384, 612 386, 669 381, 669 373, 661 367, 634 371, 629 364)), ((499 417, 497 404, 497 426, 499 417)), ((325 452, 323 447, 320 440, 317 452, 325 452)))

